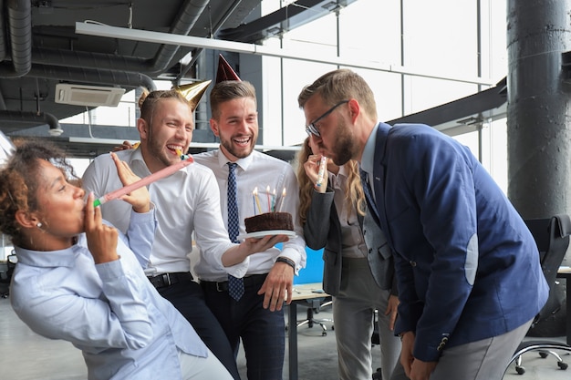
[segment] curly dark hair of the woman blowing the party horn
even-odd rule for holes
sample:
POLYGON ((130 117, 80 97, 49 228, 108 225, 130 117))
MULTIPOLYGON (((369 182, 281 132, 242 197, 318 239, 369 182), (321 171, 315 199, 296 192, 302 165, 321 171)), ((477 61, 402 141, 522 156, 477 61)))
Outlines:
POLYGON ((68 180, 78 181, 65 154, 47 141, 16 143, 16 152, 0 169, 0 231, 21 245, 20 226, 16 211, 37 211, 40 160, 47 160, 61 169, 68 180))

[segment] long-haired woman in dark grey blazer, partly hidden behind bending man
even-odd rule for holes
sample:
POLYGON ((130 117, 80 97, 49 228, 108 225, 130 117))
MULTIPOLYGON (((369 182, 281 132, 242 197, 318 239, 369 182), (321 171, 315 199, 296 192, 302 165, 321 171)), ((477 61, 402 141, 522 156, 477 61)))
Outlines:
POLYGON ((399 303, 392 254, 366 212, 358 163, 337 167, 328 160, 328 175, 317 186, 321 155, 311 145, 309 137, 297 156, 298 214, 307 246, 325 247, 323 289, 333 296, 339 378, 371 379, 370 337, 377 309, 382 378, 389 379, 400 357, 400 340, 392 333, 399 303))

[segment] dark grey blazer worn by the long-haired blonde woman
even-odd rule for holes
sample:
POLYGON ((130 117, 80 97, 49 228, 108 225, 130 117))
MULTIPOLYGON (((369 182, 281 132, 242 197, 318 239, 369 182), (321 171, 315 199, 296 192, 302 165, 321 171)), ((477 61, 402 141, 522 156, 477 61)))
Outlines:
MULTIPOLYGON (((304 235, 306 244, 312 250, 323 251, 323 290, 331 295, 339 293, 341 283, 341 224, 333 201, 334 190, 320 193, 313 190, 311 205, 307 211, 304 235)), ((368 247, 369 267, 375 282, 381 289, 397 294, 392 250, 385 234, 373 221, 369 212, 358 217, 368 247)))

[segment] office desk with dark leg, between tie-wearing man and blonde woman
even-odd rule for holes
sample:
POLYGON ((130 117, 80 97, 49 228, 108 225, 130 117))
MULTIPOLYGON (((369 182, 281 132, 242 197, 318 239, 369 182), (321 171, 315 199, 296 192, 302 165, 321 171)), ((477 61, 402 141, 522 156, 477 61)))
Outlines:
POLYGON ((289 304, 287 316, 287 336, 289 340, 289 380, 297 380, 297 303, 305 302, 313 298, 328 297, 327 293, 315 293, 323 291, 321 282, 303 283, 294 285, 292 303, 289 304))

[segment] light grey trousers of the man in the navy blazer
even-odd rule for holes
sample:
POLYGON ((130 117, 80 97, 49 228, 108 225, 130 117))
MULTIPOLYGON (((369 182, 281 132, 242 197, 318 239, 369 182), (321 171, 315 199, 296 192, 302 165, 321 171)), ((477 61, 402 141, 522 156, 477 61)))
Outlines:
MULTIPOLYGON (((533 320, 492 338, 446 348, 431 375, 431 380, 500 380, 517 345, 524 339, 533 320)), ((390 380, 407 380, 398 366, 390 380)))

